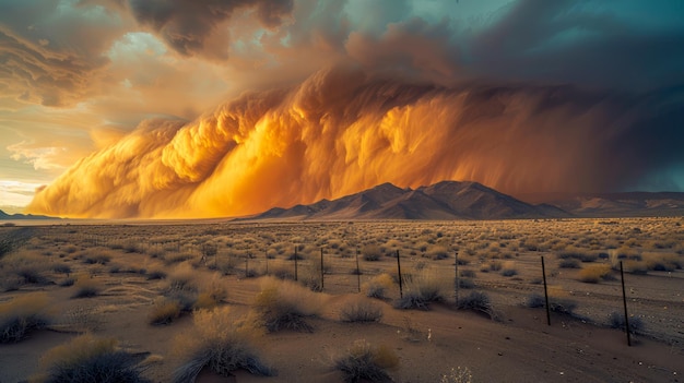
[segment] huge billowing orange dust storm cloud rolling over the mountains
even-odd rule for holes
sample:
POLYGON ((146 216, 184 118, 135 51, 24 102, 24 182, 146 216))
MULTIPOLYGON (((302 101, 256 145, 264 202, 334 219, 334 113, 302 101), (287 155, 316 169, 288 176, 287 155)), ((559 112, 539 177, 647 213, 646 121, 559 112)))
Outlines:
POLYGON ((615 190, 684 160, 657 154, 684 144, 683 116, 662 96, 441 87, 335 67, 192 122, 146 121, 37 193, 28 211, 231 216, 445 179, 514 194, 615 190))

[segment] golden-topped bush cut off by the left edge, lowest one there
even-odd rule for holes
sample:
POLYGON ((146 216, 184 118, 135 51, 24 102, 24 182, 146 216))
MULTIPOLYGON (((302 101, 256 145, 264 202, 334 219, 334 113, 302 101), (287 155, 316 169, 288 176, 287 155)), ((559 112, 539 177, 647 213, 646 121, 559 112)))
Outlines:
POLYGON ((32 292, 0 303, 0 343, 19 342, 50 322, 47 295, 32 292))

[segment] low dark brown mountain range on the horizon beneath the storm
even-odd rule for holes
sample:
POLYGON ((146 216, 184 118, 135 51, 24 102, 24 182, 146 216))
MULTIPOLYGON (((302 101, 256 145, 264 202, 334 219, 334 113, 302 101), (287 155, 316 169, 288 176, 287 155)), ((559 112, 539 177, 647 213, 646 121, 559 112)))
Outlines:
POLYGON ((417 189, 391 183, 310 205, 275 207, 247 219, 512 219, 684 215, 684 193, 553 195, 532 204, 477 182, 443 181, 417 189))

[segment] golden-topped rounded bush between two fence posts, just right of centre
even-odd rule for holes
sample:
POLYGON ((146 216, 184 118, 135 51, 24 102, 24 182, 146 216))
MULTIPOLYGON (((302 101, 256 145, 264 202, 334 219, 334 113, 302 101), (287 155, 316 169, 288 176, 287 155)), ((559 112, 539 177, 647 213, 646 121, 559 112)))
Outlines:
POLYGON ((394 307, 404 310, 426 310, 429 302, 443 301, 451 288, 450 280, 423 271, 405 278, 403 297, 394 303, 394 307))

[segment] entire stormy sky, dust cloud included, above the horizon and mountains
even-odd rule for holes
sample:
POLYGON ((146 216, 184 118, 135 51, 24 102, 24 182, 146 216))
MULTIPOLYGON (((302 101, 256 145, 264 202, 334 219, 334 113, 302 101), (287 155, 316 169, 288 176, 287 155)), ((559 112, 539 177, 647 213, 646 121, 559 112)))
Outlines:
POLYGON ((0 0, 0 208, 684 191, 680 0, 0 0))

